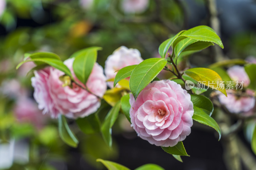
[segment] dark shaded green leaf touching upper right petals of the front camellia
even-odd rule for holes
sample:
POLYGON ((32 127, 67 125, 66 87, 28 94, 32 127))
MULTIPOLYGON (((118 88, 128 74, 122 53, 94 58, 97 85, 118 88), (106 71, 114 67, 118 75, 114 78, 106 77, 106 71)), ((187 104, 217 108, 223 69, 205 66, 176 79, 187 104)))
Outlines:
POLYGON ((192 94, 190 96, 191 96, 191 101, 193 102, 194 107, 198 107, 202 109, 209 116, 212 115, 213 104, 211 100, 209 100, 207 97, 204 97, 202 95, 192 94))

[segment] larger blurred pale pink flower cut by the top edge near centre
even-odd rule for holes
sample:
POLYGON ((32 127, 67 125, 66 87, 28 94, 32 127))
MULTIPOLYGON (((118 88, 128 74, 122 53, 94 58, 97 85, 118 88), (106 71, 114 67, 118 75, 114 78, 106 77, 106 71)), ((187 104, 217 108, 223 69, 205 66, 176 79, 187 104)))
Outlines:
POLYGON ((149 0, 123 0, 121 7, 125 13, 142 13, 146 11, 149 0))

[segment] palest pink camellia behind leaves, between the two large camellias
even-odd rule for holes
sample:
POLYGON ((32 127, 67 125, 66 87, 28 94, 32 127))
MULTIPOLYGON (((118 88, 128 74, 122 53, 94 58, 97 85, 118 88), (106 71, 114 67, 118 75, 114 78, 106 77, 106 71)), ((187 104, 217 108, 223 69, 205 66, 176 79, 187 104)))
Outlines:
MULTIPOLYGON (((105 75, 108 79, 115 78, 117 70, 120 70, 129 65, 139 64, 143 61, 140 56, 140 51, 127 47, 117 48, 112 55, 109 55, 105 62, 105 75)), ((108 82, 108 86, 113 88, 114 82, 108 82)))

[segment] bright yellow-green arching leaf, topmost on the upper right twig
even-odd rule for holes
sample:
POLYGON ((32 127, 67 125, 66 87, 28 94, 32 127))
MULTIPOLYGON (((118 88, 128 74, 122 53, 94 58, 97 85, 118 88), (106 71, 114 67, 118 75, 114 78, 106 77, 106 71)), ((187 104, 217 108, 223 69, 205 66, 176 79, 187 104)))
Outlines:
POLYGON ((218 44, 221 48, 224 48, 220 37, 212 28, 208 26, 196 26, 187 31, 184 31, 180 34, 180 36, 192 38, 197 41, 213 42, 218 44))

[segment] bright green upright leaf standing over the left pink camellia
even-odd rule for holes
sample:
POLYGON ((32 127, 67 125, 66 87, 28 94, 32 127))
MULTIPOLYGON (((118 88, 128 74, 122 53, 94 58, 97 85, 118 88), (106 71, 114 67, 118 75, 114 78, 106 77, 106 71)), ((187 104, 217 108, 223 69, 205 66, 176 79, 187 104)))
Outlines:
POLYGON ((73 70, 78 78, 83 84, 86 84, 88 80, 94 63, 97 60, 97 50, 100 48, 89 48, 80 51, 79 53, 75 53, 75 60, 73 63, 73 70))

